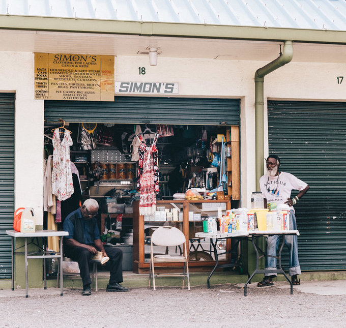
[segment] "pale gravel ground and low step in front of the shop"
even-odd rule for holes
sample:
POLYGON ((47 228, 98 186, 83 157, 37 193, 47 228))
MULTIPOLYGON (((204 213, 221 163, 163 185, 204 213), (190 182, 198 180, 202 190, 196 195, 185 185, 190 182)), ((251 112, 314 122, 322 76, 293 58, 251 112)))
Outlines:
MULTIPOLYGON (((217 273, 207 288, 208 274, 192 274, 191 290, 181 288, 181 278, 157 279, 157 289, 148 288, 148 275, 124 275, 123 285, 129 292, 106 292, 108 278, 102 273, 99 290, 82 296, 81 281, 65 279, 64 295, 51 286, 2 289, 0 285, 1 327, 6 328, 320 328, 345 327, 346 279, 343 272, 335 275, 303 274, 300 286, 280 277, 274 286, 257 287, 253 280, 244 296, 247 275, 217 273), (319 277, 320 280, 308 280, 319 277), (328 280, 321 278, 329 277, 328 280), (232 281, 232 282, 230 282, 232 281)), ((108 274, 109 276, 109 274, 108 274)), ((56 280, 50 280, 49 283, 56 280)), ((55 286, 55 284, 53 284, 55 286)))

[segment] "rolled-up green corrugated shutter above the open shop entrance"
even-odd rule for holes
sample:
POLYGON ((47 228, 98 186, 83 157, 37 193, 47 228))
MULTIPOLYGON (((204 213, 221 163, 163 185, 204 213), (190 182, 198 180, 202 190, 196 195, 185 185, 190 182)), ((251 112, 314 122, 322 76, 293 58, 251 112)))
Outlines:
POLYGON ((123 97, 114 101, 46 100, 45 120, 54 122, 239 125, 239 99, 123 97))

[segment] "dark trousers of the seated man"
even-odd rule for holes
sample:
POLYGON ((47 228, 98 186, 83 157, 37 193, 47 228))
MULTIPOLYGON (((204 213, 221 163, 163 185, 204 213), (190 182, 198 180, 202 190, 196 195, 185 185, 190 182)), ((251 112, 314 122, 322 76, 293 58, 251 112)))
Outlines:
MULTIPOLYGON (((123 282, 123 251, 112 246, 105 246, 109 261, 106 263, 109 271, 109 284, 123 282)), ((82 278, 83 286, 91 284, 90 279, 90 258, 92 254, 83 247, 64 247, 64 253, 73 261, 78 262, 80 277, 82 278)))

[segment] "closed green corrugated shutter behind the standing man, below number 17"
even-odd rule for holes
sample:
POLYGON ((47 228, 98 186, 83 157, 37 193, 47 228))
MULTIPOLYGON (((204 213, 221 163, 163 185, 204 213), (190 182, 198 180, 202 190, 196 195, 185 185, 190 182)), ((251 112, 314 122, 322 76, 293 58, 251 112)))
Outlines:
POLYGON ((346 103, 268 101, 268 130, 280 170, 310 186, 295 206, 301 269, 346 269, 346 103))

